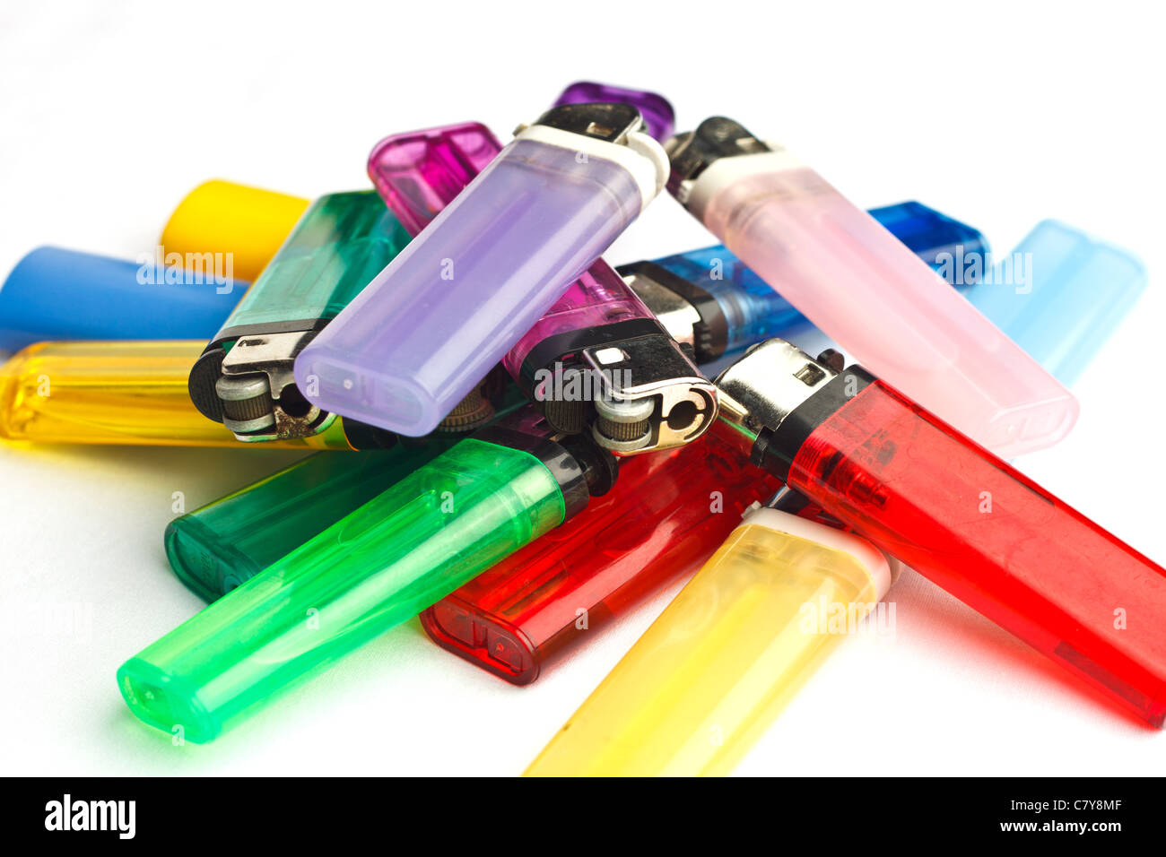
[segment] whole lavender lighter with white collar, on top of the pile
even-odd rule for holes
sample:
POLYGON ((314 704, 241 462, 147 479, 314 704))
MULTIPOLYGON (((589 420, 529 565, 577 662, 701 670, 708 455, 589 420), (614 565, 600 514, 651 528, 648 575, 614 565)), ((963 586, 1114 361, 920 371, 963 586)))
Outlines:
POLYGON ((626 105, 556 107, 522 131, 296 359, 319 408, 423 435, 660 188, 626 105))

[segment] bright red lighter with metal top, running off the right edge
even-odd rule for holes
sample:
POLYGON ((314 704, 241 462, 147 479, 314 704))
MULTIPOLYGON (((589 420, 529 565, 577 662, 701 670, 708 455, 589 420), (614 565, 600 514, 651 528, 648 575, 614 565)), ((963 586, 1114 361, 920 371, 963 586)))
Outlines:
POLYGON ((773 339, 721 374, 722 419, 752 459, 1161 726, 1166 570, 835 357, 773 339))

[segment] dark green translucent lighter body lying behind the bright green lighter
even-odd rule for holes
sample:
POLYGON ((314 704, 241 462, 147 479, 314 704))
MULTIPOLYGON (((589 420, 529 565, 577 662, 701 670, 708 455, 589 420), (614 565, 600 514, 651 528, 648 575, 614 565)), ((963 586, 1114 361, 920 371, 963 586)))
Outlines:
POLYGON ((170 521, 166 555, 211 602, 433 461, 452 441, 314 455, 170 521))

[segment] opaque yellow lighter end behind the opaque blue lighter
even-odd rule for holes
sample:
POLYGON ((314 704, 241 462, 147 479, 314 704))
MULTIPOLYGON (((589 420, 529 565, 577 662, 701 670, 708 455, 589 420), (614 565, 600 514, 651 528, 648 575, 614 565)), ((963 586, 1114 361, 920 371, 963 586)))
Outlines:
POLYGON ((183 255, 230 253, 234 275, 253 281, 307 208, 307 199, 287 194, 205 182, 178 203, 162 230, 161 244, 167 253, 183 255))

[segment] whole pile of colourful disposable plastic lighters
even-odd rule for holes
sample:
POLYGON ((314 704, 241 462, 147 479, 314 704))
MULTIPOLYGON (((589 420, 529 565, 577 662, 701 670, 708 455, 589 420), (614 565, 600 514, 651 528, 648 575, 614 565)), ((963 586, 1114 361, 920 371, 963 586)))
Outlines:
POLYGON ((3 437, 347 450, 170 524, 211 604, 118 670, 139 718, 212 740, 417 614, 526 684, 700 569, 528 773, 724 773, 840 640, 807 605, 862 619, 905 563, 1163 725, 1166 571, 1003 461, 1072 428, 1140 265, 1044 222, 1018 287, 956 220, 672 126, 575 84, 505 147, 382 140, 375 190, 204 184, 153 267, 24 258, 3 437), (724 246, 611 268, 665 188, 724 246), (808 323, 861 365, 777 338, 808 323))

